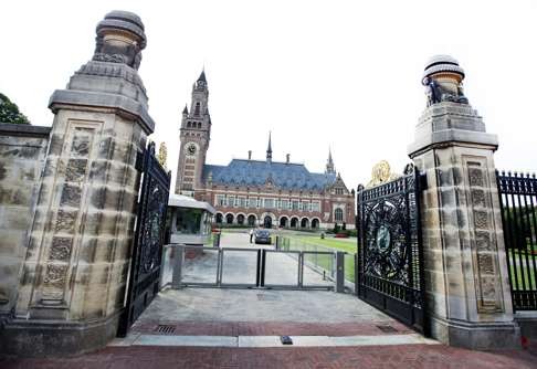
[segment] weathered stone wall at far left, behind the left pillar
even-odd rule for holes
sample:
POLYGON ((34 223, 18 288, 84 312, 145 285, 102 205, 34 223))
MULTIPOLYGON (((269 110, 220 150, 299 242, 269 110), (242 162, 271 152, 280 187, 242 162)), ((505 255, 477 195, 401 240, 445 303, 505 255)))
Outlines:
POLYGON ((0 315, 15 305, 50 130, 0 124, 0 315))

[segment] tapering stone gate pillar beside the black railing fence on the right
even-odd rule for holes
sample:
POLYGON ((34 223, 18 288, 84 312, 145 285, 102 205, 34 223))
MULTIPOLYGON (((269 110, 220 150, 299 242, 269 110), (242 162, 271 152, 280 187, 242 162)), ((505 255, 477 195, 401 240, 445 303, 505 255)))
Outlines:
POLYGON ((409 156, 427 175, 421 198, 424 276, 432 336, 472 349, 519 346, 513 320, 493 154, 462 91, 464 71, 451 56, 423 74, 428 107, 409 156))

